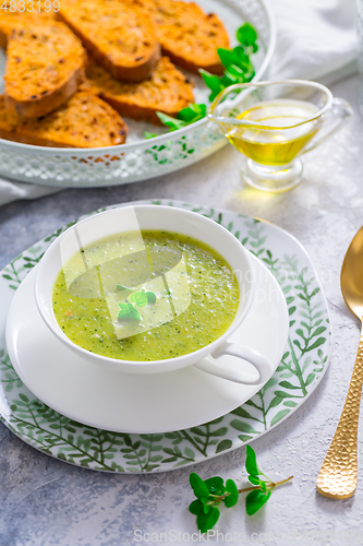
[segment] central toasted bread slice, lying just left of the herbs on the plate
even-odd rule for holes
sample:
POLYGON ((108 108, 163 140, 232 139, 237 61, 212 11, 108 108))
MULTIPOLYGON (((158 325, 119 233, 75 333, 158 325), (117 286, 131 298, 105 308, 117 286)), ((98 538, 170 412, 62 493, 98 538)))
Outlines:
POLYGON ((86 74, 100 98, 113 106, 121 116, 136 120, 161 124, 157 111, 177 116, 194 102, 193 84, 168 57, 162 57, 150 78, 141 83, 116 80, 90 57, 86 74))

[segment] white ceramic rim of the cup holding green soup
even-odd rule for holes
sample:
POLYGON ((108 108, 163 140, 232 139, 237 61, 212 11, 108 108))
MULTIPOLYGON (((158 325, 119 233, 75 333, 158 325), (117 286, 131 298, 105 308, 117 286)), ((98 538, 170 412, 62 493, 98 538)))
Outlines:
MULTIPOLYGON (((137 210, 137 209, 138 210, 141 210, 141 209, 155 210, 156 213, 159 213, 160 211, 168 211, 170 213, 170 206, 165 206, 165 205, 153 205, 153 204, 143 205, 143 204, 140 204, 140 205, 131 205, 130 207, 132 207, 134 210, 137 210)), ((125 210, 128 207, 120 206, 119 209, 125 210)), ((198 361, 202 358, 205 358, 206 356, 211 355, 211 353, 217 347, 219 347, 220 345, 222 345, 225 342, 228 341, 228 337, 234 332, 234 330, 243 322, 243 320, 247 316, 247 313, 251 309, 252 302, 253 302, 254 295, 255 295, 255 273, 254 273, 252 260, 249 256, 249 251, 245 250, 243 245, 230 232, 228 232, 228 229, 226 229, 226 227, 217 224, 213 219, 207 218, 201 214, 196 214, 192 211, 186 211, 183 209, 173 209, 173 213, 189 216, 191 218, 197 219, 198 222, 202 222, 202 223, 205 223, 207 225, 213 226, 214 229, 216 229, 216 228, 219 229, 220 233, 223 234, 223 236, 231 241, 231 244, 235 247, 235 249, 239 249, 243 253, 243 256, 246 260, 246 263, 247 263, 250 278, 251 278, 251 283, 250 283, 251 287, 250 287, 250 294, 249 294, 247 301, 245 302, 245 307, 244 307, 244 310, 242 311, 241 316, 238 319, 234 318, 232 324, 229 327, 229 329, 220 337, 218 337, 213 343, 210 343, 210 344, 208 344, 208 345, 206 345, 197 351, 194 351, 192 353, 187 353, 186 355, 177 356, 174 358, 168 358, 168 359, 164 359, 164 360, 123 360, 123 359, 109 358, 109 357, 106 357, 102 355, 98 355, 97 353, 89 352, 83 347, 80 347, 75 343, 73 343, 64 334, 64 332, 60 329, 60 327, 57 322, 57 319, 55 317, 52 306, 49 306, 50 307, 50 314, 52 317, 52 322, 49 321, 49 317, 48 317, 49 310, 44 309, 43 298, 41 298, 41 280, 43 280, 43 276, 46 275, 46 273, 43 273, 43 265, 41 265, 45 263, 44 258, 49 256, 53 251, 55 247, 59 247, 59 245, 60 245, 62 238, 65 236, 65 234, 68 234, 70 230, 72 230, 75 226, 80 226, 81 224, 85 224, 86 222, 92 222, 92 219, 95 218, 96 216, 99 217, 100 215, 108 214, 110 212, 114 212, 114 210, 117 210, 117 209, 112 209, 110 211, 104 211, 104 212, 97 213, 97 214, 92 215, 87 218, 84 218, 83 221, 71 226, 69 229, 63 232, 63 234, 60 235, 49 246, 49 248, 46 250, 44 257, 41 258, 40 262, 38 263, 38 265, 36 268, 37 271, 36 271, 36 277, 35 277, 35 300, 36 300, 39 313, 40 313, 43 320, 45 321, 45 323, 47 324, 47 327, 51 330, 51 332, 61 342, 65 343, 73 352, 78 353, 80 356, 83 356, 83 357, 87 358, 88 360, 95 360, 95 361, 97 360, 98 364, 102 364, 102 363, 109 364, 112 366, 113 369, 117 369, 119 367, 120 371, 123 371, 123 372, 128 371, 126 368, 129 369, 130 372, 135 372, 135 373, 140 372, 142 369, 145 370, 145 371, 142 371, 144 373, 148 373, 148 372, 153 373, 156 371, 155 368, 158 368, 157 371, 160 371, 160 372, 167 371, 168 369, 170 369, 170 370, 180 369, 180 368, 192 365, 193 364, 191 361, 192 359, 195 361, 198 361), (153 368, 154 368, 154 370, 153 370, 153 368)), ((199 239, 196 238, 196 240, 199 240, 199 239)), ((225 256, 222 256, 222 258, 229 264, 229 262, 225 258, 225 256)), ((239 286, 241 288, 241 286, 242 286, 241 280, 238 277, 237 277, 237 280, 238 280, 239 286)), ((53 285, 56 278, 53 278, 52 281, 53 281, 52 282, 52 285, 53 285)), ((242 290, 240 289, 240 292, 242 292, 242 290)), ((48 295, 47 301, 49 302, 49 300, 50 300, 50 298, 48 295)), ((240 299, 240 304, 239 304, 239 309, 240 309, 240 305, 241 305, 241 299, 240 299)), ((238 311, 239 311, 239 309, 238 309, 238 311)))

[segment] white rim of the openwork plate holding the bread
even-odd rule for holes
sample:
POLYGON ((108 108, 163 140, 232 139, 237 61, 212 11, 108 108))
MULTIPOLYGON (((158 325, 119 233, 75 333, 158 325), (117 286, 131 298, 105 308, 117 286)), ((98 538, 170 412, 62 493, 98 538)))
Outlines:
MULTIPOLYGON (((273 58, 275 46, 276 46, 276 24, 275 24, 275 16, 273 14, 271 7, 269 4, 268 0, 259 0, 262 5, 264 7, 264 10, 267 15, 268 24, 269 24, 269 29, 270 29, 270 36, 269 36, 269 43, 267 46, 267 51, 265 59, 257 70, 255 76, 253 78, 252 82, 257 82, 259 78, 263 76, 263 74, 266 72, 267 67, 273 58)), ((191 126, 186 126, 182 129, 178 129, 177 131, 173 131, 173 134, 178 134, 180 136, 183 136, 184 134, 187 134, 191 129, 196 129, 199 128, 201 126, 208 123, 209 119, 208 117, 205 117, 203 119, 199 119, 198 121, 195 121, 191 126)), ((153 139, 153 145, 154 143, 156 145, 162 144, 165 141, 170 139, 170 133, 165 133, 160 134, 159 136, 155 136, 153 139)), ((76 152, 77 155, 84 155, 87 157, 89 155, 89 152, 99 152, 99 153, 119 153, 122 151, 125 152, 133 152, 134 150, 144 150, 144 149, 149 149, 150 147, 150 140, 142 140, 140 142, 136 142, 134 144, 119 144, 117 146, 107 146, 107 147, 88 147, 88 149, 83 149, 83 147, 72 147, 72 149, 61 149, 61 147, 48 147, 48 146, 36 146, 33 144, 23 144, 21 142, 13 142, 9 141, 5 139, 0 139, 1 146, 9 146, 12 149, 17 149, 19 153, 21 154, 22 151, 25 150, 32 150, 32 151, 39 151, 43 155, 51 155, 53 156, 57 154, 58 156, 69 156, 72 155, 73 153, 76 152)), ((226 141, 227 144, 227 141, 226 141)), ((157 176, 157 175, 156 175, 157 176)))

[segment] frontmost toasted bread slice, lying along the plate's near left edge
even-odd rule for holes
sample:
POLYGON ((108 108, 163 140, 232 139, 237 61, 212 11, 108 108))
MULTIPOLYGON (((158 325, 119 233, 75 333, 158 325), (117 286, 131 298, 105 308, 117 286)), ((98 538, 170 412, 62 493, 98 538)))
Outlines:
POLYGON ((77 92, 65 105, 38 120, 20 120, 0 95, 0 138, 55 147, 101 147, 123 144, 128 126, 96 95, 77 92))

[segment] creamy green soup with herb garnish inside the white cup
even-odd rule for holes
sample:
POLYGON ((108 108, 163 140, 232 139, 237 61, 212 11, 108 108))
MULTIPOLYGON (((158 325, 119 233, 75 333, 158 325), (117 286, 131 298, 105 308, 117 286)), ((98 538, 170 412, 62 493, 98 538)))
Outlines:
POLYGON ((59 327, 86 351, 122 360, 193 353, 231 325, 240 300, 226 260, 156 230, 109 236, 63 263, 52 293, 59 327))

